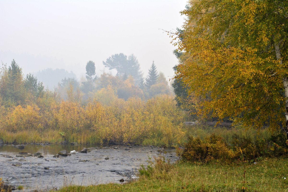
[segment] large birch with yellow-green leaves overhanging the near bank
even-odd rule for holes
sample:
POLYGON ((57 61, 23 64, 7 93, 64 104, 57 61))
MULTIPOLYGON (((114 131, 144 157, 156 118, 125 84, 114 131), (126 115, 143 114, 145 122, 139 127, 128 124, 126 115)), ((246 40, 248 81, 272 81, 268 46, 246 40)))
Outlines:
POLYGON ((171 36, 184 52, 176 77, 199 116, 285 127, 287 134, 287 11, 280 0, 189 1, 182 41, 171 36))

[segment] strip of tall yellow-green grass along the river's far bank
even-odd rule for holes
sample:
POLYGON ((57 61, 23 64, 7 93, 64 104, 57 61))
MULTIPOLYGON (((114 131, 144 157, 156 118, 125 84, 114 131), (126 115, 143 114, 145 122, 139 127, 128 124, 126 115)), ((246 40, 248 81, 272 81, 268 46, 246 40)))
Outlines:
POLYGON ((182 136, 179 140, 173 140, 169 136, 165 136, 161 132, 156 132, 149 136, 143 136, 137 142, 123 141, 123 140, 113 140, 110 137, 102 137, 101 134, 97 131, 85 130, 82 132, 64 132, 63 130, 22 130, 17 132, 10 132, 5 129, 0 128, 0 139, 3 140, 3 144, 8 145, 19 145, 19 144, 28 144, 28 143, 78 143, 80 145, 88 144, 98 144, 98 145, 113 145, 113 144, 122 144, 122 145, 144 145, 144 146, 164 146, 167 147, 176 147, 181 145, 186 140, 185 132, 181 132, 182 136), (109 139, 110 138, 110 139, 109 139))

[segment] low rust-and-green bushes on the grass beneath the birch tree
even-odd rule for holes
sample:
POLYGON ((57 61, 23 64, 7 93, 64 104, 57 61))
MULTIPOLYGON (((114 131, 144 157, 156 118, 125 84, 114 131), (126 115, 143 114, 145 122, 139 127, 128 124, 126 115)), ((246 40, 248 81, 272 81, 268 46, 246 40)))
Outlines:
MULTIPOLYGON (((255 161, 258 157, 275 157, 287 154, 286 137, 280 130, 274 132, 270 138, 251 138, 237 134, 232 136, 229 145, 224 138, 212 134, 203 140, 190 136, 180 155, 183 160, 208 162, 215 160, 255 161)), ((179 151, 178 151, 179 153, 179 151)))

